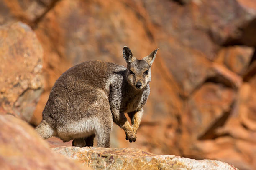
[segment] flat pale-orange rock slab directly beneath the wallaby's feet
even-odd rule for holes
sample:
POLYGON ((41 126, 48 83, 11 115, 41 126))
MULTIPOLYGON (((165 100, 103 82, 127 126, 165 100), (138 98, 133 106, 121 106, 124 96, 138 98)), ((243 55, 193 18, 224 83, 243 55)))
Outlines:
POLYGON ((134 148, 58 147, 54 151, 95 170, 238 170, 220 161, 155 155, 134 148))

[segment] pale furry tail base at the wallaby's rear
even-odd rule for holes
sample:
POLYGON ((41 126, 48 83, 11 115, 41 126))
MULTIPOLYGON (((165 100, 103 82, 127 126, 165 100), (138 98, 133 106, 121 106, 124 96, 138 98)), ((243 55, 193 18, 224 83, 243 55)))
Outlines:
POLYGON ((36 127, 36 132, 44 139, 52 137, 55 133, 55 130, 45 121, 42 122, 36 127))

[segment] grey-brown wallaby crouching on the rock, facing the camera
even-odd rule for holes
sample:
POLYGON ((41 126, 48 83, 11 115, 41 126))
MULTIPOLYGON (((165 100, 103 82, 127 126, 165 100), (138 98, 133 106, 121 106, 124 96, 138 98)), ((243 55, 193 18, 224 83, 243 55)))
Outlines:
POLYGON ((135 142, 149 95, 151 65, 158 49, 142 60, 123 47, 127 68, 102 61, 87 61, 64 72, 49 95, 43 120, 36 127, 44 139, 56 136, 73 146, 110 147, 113 122, 135 142), (131 124, 124 113, 128 113, 131 124))

